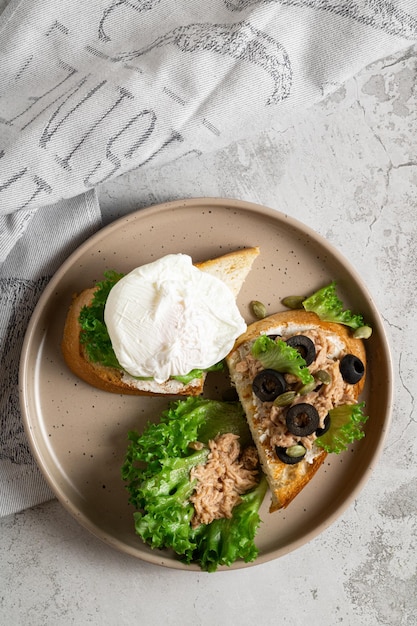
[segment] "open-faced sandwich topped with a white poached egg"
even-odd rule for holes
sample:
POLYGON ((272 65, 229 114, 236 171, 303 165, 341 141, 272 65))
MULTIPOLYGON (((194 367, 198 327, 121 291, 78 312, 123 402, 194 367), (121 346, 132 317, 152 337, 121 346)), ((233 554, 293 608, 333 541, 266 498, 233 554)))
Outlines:
POLYGON ((246 323, 236 304, 258 248, 193 265, 169 254, 74 297, 62 352, 90 385, 134 395, 199 395, 246 323))

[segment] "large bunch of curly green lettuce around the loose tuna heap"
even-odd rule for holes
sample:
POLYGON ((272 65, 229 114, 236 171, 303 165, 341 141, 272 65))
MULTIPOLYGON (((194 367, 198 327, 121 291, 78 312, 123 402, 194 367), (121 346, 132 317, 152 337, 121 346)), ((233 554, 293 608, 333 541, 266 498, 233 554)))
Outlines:
POLYGON ((131 431, 122 467, 122 478, 135 507, 136 533, 152 548, 168 548, 186 563, 198 563, 215 571, 237 559, 253 561, 260 524, 258 514, 266 493, 266 481, 242 496, 231 519, 191 526, 194 507, 189 498, 195 489, 190 470, 205 463, 210 439, 233 432, 242 447, 252 443, 243 408, 238 402, 201 397, 172 402, 158 423, 149 423, 142 434, 131 431), (195 450, 192 444, 204 444, 195 450))

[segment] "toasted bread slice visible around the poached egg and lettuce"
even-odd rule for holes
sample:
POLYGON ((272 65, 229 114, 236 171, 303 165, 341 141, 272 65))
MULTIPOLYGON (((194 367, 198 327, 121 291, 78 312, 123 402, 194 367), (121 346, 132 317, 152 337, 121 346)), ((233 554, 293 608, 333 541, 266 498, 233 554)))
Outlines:
MULTIPOLYGON (((223 280, 235 297, 239 293, 251 267, 259 254, 259 248, 245 248, 225 254, 216 259, 198 263, 201 271, 207 271, 223 280)), ((71 371, 93 387, 112 393, 129 395, 200 395, 205 375, 187 384, 170 379, 164 383, 153 380, 137 380, 126 376, 122 370, 92 363, 80 343, 79 316, 84 306, 89 306, 95 287, 85 289, 73 298, 64 326, 62 353, 71 371)))

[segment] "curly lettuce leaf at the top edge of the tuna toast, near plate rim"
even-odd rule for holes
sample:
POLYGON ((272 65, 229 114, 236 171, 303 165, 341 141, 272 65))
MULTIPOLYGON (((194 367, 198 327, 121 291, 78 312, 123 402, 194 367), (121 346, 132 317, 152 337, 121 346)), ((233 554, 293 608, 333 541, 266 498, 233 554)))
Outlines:
POLYGON ((362 315, 344 308, 343 302, 337 296, 335 281, 303 300, 302 305, 306 311, 316 313, 324 322, 344 324, 355 330, 364 326, 362 315))

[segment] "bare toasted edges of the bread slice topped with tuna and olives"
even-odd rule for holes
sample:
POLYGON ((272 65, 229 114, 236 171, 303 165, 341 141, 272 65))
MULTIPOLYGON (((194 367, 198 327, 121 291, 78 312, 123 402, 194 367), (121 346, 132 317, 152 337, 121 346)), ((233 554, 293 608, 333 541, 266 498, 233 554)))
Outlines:
MULTIPOLYGON (((236 386, 240 401, 245 409, 246 417, 252 432, 252 437, 258 449, 259 458, 271 490, 270 512, 287 507, 290 502, 311 481, 320 466, 327 457, 327 452, 321 450, 312 462, 303 459, 297 464, 288 465, 282 462, 276 455, 275 450, 268 445, 269 439, 262 437, 262 424, 257 419, 257 410, 253 400, 252 384, 250 379, 244 380, 236 371, 236 365, 240 361, 239 348, 246 342, 252 342, 262 334, 285 333, 286 329, 294 329, 297 332, 305 332, 308 329, 320 329, 321 332, 335 335, 344 345, 343 353, 354 354, 361 359, 366 366, 366 353, 363 342, 355 339, 352 332, 346 326, 332 322, 324 322, 312 312, 304 310, 283 311, 276 313, 248 326, 247 331, 238 337, 233 350, 227 357, 232 383, 236 386), (297 330, 296 330, 297 329, 297 330)), ((355 400, 363 390, 365 376, 353 385, 355 400)))

